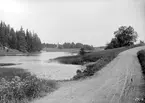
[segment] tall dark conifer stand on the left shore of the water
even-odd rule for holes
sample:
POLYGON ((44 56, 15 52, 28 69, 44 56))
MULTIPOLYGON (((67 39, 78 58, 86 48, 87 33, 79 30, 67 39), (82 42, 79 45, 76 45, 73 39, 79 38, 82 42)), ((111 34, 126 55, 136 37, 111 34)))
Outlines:
POLYGON ((41 40, 28 29, 14 30, 10 25, 0 23, 0 47, 17 49, 21 52, 36 52, 42 49, 41 40))

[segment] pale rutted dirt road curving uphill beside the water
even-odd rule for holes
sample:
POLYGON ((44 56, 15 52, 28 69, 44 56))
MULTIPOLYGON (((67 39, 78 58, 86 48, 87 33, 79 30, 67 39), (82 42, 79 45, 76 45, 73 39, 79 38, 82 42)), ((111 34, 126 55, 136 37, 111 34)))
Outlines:
POLYGON ((136 53, 143 48, 122 52, 91 79, 66 83, 33 103, 139 103, 143 81, 136 53))

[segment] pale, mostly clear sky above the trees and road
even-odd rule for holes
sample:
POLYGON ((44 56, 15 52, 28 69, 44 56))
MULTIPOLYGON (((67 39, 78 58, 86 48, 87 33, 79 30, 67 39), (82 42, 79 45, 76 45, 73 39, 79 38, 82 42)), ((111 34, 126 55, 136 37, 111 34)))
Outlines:
POLYGON ((42 42, 103 46, 120 26, 145 40, 145 0, 0 0, 0 20, 42 42))

